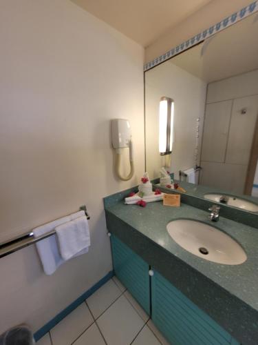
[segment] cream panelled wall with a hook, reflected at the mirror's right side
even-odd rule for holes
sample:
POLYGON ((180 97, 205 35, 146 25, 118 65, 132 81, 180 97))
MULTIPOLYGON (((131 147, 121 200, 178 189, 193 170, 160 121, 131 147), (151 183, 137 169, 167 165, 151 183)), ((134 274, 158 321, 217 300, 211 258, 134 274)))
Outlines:
POLYGON ((208 84, 200 184, 244 194, 258 113, 258 70, 208 84))

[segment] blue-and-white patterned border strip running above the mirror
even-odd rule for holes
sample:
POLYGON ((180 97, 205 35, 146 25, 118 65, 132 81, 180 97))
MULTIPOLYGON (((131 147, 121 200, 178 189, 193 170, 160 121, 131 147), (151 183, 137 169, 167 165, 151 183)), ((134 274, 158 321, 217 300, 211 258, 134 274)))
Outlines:
POLYGON ((189 49, 192 46, 195 46, 195 44, 200 43, 204 39, 213 36, 213 34, 216 34, 217 32, 224 30, 225 28, 228 28, 228 26, 232 26, 233 24, 237 23, 237 21, 241 21, 241 19, 244 19, 250 16, 250 14, 253 14, 257 11, 258 2, 254 1, 250 3, 250 5, 242 8, 238 12, 231 14, 229 17, 224 18, 222 21, 219 21, 219 23, 216 23, 210 28, 207 28, 203 32, 195 34, 195 36, 193 36, 191 39, 182 42, 181 44, 172 48, 168 52, 165 52, 164 54, 160 55, 160 57, 156 57, 152 61, 146 63, 144 65, 144 71, 147 71, 150 68, 153 68, 154 66, 157 66, 168 59, 171 59, 171 57, 180 54, 180 52, 183 52, 184 50, 189 49))

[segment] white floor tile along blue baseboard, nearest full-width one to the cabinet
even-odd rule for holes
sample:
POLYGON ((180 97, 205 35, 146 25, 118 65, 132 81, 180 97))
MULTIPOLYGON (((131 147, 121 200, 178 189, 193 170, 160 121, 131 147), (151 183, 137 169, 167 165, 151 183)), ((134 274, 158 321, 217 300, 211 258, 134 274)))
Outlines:
POLYGON ((110 279, 101 286, 96 293, 87 299, 87 304, 95 319, 100 316, 120 295, 122 292, 118 286, 110 279))

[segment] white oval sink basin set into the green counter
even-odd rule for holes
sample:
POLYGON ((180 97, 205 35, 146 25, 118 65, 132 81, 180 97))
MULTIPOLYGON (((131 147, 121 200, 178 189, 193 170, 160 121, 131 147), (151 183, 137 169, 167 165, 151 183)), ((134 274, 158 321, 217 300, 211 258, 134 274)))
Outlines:
POLYGON ((226 265, 239 265, 247 259, 232 237, 200 221, 178 219, 167 224, 166 229, 177 244, 202 259, 226 265))

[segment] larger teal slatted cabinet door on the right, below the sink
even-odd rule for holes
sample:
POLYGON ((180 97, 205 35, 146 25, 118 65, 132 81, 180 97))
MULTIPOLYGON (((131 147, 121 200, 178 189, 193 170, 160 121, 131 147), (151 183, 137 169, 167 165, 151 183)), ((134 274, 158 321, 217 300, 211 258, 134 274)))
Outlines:
POLYGON ((152 319, 173 345, 239 345, 158 272, 151 277, 152 319))

